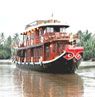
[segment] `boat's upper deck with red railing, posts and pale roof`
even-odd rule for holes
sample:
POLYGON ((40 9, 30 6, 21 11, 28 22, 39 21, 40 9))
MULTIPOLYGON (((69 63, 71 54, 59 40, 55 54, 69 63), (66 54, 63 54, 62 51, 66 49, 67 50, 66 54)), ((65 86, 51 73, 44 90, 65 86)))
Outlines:
POLYGON ((67 41, 76 40, 77 35, 73 35, 73 39, 66 28, 69 25, 64 25, 58 20, 37 20, 25 27, 23 35, 23 46, 35 46, 42 43, 53 41, 67 41))

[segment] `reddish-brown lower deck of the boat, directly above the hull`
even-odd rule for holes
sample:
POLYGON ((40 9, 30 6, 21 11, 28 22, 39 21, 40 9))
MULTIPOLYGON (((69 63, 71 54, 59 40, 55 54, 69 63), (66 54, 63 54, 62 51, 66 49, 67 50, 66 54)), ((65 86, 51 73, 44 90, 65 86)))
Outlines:
POLYGON ((41 62, 49 61, 60 56, 65 47, 69 45, 67 41, 54 41, 44 43, 40 46, 30 47, 28 49, 17 50, 16 61, 19 62, 41 62))

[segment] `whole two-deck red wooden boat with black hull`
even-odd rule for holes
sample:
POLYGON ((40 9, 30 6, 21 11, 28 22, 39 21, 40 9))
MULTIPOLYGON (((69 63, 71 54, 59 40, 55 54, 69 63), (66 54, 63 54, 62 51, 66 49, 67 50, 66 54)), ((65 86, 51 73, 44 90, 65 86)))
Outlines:
POLYGON ((16 49, 19 68, 51 73, 75 73, 84 48, 79 35, 66 32, 69 25, 56 19, 36 20, 26 25, 16 49))

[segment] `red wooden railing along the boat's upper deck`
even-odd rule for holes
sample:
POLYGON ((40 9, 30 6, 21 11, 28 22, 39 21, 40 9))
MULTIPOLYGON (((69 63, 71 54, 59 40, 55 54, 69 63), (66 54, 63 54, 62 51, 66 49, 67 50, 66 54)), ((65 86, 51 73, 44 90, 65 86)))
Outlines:
POLYGON ((51 42, 56 40, 77 40, 79 39, 77 34, 68 34, 63 32, 45 33, 43 36, 35 37, 34 40, 26 40, 20 47, 36 45, 44 42, 51 42), (72 38, 72 39, 71 39, 72 38))

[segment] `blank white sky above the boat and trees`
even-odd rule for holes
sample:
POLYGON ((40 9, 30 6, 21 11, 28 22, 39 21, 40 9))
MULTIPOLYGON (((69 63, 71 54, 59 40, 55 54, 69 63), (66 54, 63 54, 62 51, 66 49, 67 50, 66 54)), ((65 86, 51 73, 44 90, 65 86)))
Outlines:
POLYGON ((5 36, 24 31, 38 19, 54 18, 70 25, 69 32, 95 33, 95 0, 0 0, 0 32, 5 36))

